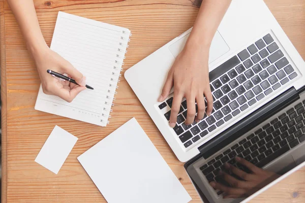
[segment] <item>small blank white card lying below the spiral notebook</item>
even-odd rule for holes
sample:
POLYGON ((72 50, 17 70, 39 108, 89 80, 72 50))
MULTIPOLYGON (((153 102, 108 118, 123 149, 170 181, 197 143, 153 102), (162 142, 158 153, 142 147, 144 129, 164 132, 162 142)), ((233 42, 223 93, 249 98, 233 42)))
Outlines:
POLYGON ((56 125, 35 161, 57 174, 77 140, 77 137, 56 125))

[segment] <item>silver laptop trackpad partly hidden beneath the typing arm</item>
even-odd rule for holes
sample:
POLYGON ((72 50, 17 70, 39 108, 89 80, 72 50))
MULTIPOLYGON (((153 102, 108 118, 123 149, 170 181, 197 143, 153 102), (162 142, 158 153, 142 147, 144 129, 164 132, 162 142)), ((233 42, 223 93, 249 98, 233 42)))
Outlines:
MULTIPOLYGON (((169 47, 170 52, 174 55, 175 58, 178 56, 178 54, 182 51, 182 49, 186 45, 189 36, 190 33, 169 47)), ((220 56, 224 55, 228 51, 230 51, 229 46, 227 45, 227 43, 225 42, 225 40, 222 38, 219 31, 217 30, 211 43, 208 63, 215 61, 216 59, 218 59, 220 56)))

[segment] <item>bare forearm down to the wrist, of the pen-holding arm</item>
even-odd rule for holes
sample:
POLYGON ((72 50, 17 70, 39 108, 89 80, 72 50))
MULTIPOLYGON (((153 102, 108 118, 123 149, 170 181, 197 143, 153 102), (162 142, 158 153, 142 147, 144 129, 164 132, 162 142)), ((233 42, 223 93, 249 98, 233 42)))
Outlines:
POLYGON ((28 50, 36 57, 47 48, 40 30, 33 0, 8 0, 15 15, 28 50))

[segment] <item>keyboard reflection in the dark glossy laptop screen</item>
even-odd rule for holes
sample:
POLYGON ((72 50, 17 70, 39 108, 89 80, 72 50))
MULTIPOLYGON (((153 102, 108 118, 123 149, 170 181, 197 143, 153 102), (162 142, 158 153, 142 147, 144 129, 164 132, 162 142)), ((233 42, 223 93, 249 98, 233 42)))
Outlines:
MULTIPOLYGON (((245 158, 258 167, 263 167, 303 142, 305 140, 304 107, 305 100, 270 122, 264 123, 254 133, 233 142, 230 147, 224 148, 222 153, 216 153, 207 159, 207 162, 200 167, 207 181, 229 185, 218 176, 220 170, 230 174, 224 167, 227 162, 249 172, 247 167, 236 163, 236 156, 245 158)), ((231 175, 234 176, 234 174, 231 175)), ((222 192, 217 191, 217 193, 220 195, 222 192)))

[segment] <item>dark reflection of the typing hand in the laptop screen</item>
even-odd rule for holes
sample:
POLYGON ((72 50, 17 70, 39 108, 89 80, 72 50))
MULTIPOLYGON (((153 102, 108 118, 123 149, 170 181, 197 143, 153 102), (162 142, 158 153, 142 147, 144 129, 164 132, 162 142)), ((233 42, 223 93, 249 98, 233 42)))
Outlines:
POLYGON ((224 192, 223 198, 250 196, 280 176, 273 172, 264 171, 243 158, 236 157, 236 161, 246 166, 250 170, 249 173, 226 163, 225 167, 227 173, 220 171, 219 175, 222 176, 223 180, 230 184, 231 187, 217 182, 210 183, 212 187, 224 192))

